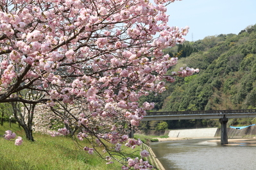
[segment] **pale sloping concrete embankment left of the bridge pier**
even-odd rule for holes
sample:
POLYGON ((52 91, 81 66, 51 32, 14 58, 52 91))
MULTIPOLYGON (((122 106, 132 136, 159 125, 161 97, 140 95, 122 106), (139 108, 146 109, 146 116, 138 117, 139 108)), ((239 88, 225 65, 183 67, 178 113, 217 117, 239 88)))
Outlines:
POLYGON ((218 128, 192 128, 170 130, 169 137, 214 137, 218 128))

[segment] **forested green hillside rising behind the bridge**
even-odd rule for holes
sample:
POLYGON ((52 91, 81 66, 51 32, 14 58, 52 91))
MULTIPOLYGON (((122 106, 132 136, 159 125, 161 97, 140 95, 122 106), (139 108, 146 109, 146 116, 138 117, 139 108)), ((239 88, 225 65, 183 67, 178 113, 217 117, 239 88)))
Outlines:
MULTIPOLYGON (((180 66, 200 68, 191 77, 176 77, 166 83, 167 91, 141 98, 155 102, 156 111, 201 111, 214 109, 255 109, 256 107, 256 24, 248 26, 238 35, 207 36, 196 42, 166 49, 170 56, 178 56, 180 66)), ((229 123, 246 124, 254 120, 230 120, 229 123)), ((168 128, 211 127, 216 120, 167 121, 168 128)), ((166 123, 151 121, 142 128, 165 128, 166 123)))

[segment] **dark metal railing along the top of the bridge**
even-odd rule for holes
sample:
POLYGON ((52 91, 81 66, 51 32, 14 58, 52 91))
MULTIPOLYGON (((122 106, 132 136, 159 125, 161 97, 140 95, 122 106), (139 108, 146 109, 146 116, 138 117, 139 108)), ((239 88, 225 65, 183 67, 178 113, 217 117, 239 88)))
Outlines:
POLYGON ((240 110, 218 110, 218 111, 174 111, 174 112, 147 112, 147 116, 154 115, 175 115, 175 114, 232 114, 256 112, 256 109, 240 109, 240 110))

